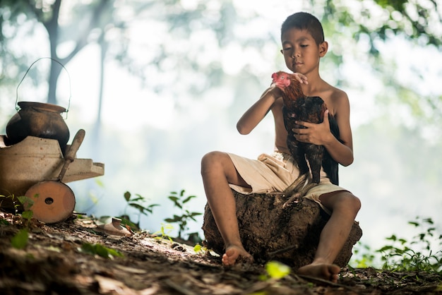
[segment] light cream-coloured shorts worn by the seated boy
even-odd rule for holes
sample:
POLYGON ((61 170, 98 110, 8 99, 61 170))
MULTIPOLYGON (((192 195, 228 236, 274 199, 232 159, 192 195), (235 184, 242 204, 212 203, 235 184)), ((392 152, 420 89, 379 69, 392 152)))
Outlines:
MULTIPOLYGON (((238 193, 281 193, 299 176, 299 169, 291 155, 282 152, 273 152, 272 155, 261 154, 258 159, 248 159, 239 155, 227 153, 237 169, 239 175, 251 188, 230 184, 238 193)), ((319 196, 335 191, 347 191, 330 182, 325 172, 321 169, 321 181, 318 186, 311 188, 304 198, 313 200, 325 212, 330 210, 324 207, 319 196)))

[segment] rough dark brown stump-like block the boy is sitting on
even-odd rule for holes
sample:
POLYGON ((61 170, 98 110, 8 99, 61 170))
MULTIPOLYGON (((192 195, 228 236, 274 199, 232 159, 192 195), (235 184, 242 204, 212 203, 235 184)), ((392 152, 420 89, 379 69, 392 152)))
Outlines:
MULTIPOLYGON (((241 241, 257 263, 279 260, 298 269, 313 261, 319 236, 329 218, 318 203, 304 198, 282 208, 287 199, 280 195, 233 193, 241 241)), ((224 242, 208 205, 205 205, 203 231, 205 246, 215 253, 224 253, 224 242)), ((335 264, 347 265, 361 236, 362 229, 354 222, 335 264)))

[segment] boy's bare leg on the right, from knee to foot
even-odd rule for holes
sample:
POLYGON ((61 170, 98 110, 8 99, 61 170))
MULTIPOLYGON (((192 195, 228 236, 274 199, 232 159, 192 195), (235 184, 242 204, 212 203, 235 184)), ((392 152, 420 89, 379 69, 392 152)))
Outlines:
POLYGON ((333 261, 347 241, 361 203, 347 191, 325 193, 319 199, 332 214, 321 232, 313 263, 300 267, 298 273, 337 282, 340 267, 333 261))

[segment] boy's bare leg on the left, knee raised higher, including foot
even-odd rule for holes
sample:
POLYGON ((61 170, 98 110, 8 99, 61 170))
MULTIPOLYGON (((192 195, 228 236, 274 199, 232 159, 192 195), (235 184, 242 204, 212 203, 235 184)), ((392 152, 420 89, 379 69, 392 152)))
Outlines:
POLYGON ((224 265, 234 265, 238 258, 252 260, 239 236, 237 206, 229 183, 249 187, 238 174, 232 159, 225 152, 209 152, 201 160, 201 176, 205 195, 217 228, 225 243, 224 265))

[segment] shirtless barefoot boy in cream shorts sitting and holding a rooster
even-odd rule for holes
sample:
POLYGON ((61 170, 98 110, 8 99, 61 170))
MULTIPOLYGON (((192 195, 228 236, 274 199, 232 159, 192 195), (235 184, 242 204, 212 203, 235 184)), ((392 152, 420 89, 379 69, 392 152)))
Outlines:
MULTIPOLYGON (((294 129, 295 138, 306 143, 323 145, 343 166, 353 162, 350 103, 347 94, 326 83, 319 75, 319 61, 328 50, 323 28, 309 13, 294 13, 281 27, 282 54, 285 64, 301 83, 305 95, 321 97, 328 110, 321 124, 298 122, 305 128, 294 129), (330 132, 328 112, 335 116, 340 128, 340 140, 330 132)), ((271 111, 275 119, 275 151, 260 155, 258 160, 246 159, 226 152, 209 152, 201 161, 201 174, 210 210, 225 242, 224 265, 234 265, 238 259, 253 260, 241 243, 236 205, 231 188, 240 193, 270 193, 284 191, 299 171, 289 155, 287 131, 282 119, 281 90, 270 86, 237 124, 241 134, 250 133, 271 111)), ((313 263, 300 267, 300 275, 338 281, 340 267, 333 261, 350 234, 361 203, 349 191, 330 183, 321 171, 321 183, 304 198, 318 202, 330 219, 321 233, 313 263)))

